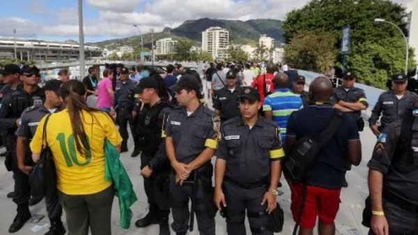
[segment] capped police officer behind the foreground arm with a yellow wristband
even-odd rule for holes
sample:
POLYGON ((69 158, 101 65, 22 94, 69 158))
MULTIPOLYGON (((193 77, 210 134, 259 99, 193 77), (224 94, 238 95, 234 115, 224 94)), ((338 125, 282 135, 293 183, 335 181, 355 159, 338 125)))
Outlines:
POLYGON ((418 95, 406 90, 407 86, 408 79, 403 74, 394 74, 392 76, 393 89, 380 94, 369 118, 369 126, 376 136, 379 136, 380 132, 391 122, 412 115, 418 95), (376 122, 381 114, 380 127, 378 127, 376 122))

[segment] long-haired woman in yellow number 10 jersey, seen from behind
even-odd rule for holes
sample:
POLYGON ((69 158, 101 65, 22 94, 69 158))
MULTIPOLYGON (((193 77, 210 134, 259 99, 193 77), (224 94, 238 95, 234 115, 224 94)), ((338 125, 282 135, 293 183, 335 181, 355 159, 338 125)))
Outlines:
MULTIPOLYGON (((104 111, 86 104, 86 88, 70 80, 61 87, 65 109, 47 122, 47 143, 54 155, 59 200, 65 210, 69 235, 111 234, 111 206, 114 188, 104 180, 104 141, 118 151, 122 138, 104 111)), ((43 118, 31 141, 33 161, 42 145, 43 118)))

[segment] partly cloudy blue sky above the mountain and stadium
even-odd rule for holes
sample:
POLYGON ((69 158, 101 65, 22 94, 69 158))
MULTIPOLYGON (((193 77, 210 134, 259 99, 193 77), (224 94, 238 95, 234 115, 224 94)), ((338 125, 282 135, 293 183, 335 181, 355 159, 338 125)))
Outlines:
MULTIPOLYGON (((83 0, 85 42, 175 28, 185 20, 284 19, 309 0, 83 0)), ((392 0, 411 9, 414 0, 392 0)), ((418 0, 415 0, 418 1, 418 0)), ((0 37, 77 40, 77 0, 0 0, 0 37), (24 9, 24 10, 22 10, 24 9), (13 29, 16 34, 13 34, 13 29)))

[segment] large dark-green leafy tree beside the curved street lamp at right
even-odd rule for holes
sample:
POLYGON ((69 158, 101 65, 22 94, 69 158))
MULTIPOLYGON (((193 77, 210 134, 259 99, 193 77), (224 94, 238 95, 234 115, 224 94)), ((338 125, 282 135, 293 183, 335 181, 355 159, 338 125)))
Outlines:
MULTIPOLYGON (((330 47, 341 66, 341 28, 350 25, 350 53, 347 69, 355 70, 359 81, 378 88, 385 87, 389 74, 403 73, 405 43, 399 31, 389 24, 374 22, 375 18, 393 22, 405 33, 405 8, 386 0, 313 0, 301 9, 288 13, 282 29, 286 42, 302 31, 324 29, 334 36, 330 47)), ((415 70, 410 49, 409 70, 415 70)), ((297 64, 296 64, 297 65, 297 64)))

